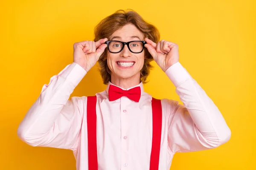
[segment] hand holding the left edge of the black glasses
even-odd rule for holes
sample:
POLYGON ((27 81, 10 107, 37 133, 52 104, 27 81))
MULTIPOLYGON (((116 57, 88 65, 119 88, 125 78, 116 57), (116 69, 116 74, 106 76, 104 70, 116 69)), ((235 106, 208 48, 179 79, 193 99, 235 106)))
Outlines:
POLYGON ((99 57, 107 47, 107 44, 104 44, 107 40, 107 38, 104 38, 97 42, 82 41, 74 43, 74 62, 79 64, 82 68, 84 68, 85 71, 88 72, 90 68, 96 64, 99 57))

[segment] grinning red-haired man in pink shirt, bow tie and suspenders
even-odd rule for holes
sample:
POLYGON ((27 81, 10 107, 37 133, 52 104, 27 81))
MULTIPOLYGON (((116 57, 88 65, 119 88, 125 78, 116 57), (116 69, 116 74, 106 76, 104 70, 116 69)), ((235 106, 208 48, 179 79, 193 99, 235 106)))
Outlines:
POLYGON ((134 11, 106 17, 96 26, 95 41, 76 42, 73 63, 43 86, 20 123, 20 139, 73 150, 78 170, 169 170, 176 152, 227 142, 229 127, 180 64, 178 45, 159 37, 134 11), (153 59, 184 106, 143 90, 153 59), (68 100, 97 61, 106 90, 68 100))

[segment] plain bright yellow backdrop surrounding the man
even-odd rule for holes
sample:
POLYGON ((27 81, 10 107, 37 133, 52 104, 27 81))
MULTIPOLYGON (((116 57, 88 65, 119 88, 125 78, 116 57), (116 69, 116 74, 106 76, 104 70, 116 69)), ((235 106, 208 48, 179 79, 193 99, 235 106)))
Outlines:
MULTIPOLYGON (((180 63, 206 91, 231 129, 212 150, 176 153, 171 170, 255 170, 255 0, 23 0, 1 2, 0 170, 75 170, 71 150, 31 147, 17 127, 50 77, 73 62, 73 44, 93 40, 93 28, 131 8, 179 45, 180 63)), ((145 91, 180 101, 175 86, 152 62, 145 91), (160 87, 160 88, 159 88, 160 87)), ((71 96, 105 85, 94 66, 71 96)))

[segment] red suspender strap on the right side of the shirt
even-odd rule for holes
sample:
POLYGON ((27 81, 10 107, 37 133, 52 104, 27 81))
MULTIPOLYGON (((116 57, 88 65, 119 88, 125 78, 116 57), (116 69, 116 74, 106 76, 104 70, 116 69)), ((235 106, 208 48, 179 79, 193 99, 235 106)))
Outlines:
POLYGON ((160 99, 152 98, 152 119, 153 135, 149 170, 158 170, 162 132, 162 106, 160 99))

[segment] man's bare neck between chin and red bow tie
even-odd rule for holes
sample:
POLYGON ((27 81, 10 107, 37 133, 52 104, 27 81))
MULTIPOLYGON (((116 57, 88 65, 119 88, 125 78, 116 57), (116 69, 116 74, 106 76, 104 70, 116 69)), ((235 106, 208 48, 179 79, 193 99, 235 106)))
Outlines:
POLYGON ((111 75, 111 83, 113 83, 114 85, 117 85, 121 88, 125 88, 125 89, 134 87, 134 86, 140 84, 140 72, 139 72, 139 74, 136 74, 129 78, 121 78, 121 77, 117 77, 116 75, 112 74, 111 75))

